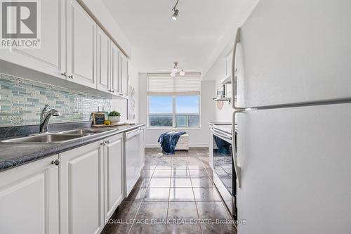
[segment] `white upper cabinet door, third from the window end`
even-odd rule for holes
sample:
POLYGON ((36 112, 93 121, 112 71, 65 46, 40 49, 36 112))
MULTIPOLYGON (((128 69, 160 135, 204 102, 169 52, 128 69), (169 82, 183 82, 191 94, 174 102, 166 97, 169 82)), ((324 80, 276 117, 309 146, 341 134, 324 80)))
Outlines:
POLYGON ((110 92, 110 38, 98 28, 97 32, 97 89, 110 92))

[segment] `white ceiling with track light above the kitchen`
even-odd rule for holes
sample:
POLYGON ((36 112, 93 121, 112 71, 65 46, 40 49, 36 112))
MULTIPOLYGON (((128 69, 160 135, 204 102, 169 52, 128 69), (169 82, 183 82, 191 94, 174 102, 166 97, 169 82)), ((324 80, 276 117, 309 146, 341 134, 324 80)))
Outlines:
POLYGON ((236 16, 247 11, 245 1, 256 0, 180 0, 174 21, 176 0, 102 0, 131 42, 138 72, 169 72, 174 61, 185 72, 208 70, 232 37, 236 16))

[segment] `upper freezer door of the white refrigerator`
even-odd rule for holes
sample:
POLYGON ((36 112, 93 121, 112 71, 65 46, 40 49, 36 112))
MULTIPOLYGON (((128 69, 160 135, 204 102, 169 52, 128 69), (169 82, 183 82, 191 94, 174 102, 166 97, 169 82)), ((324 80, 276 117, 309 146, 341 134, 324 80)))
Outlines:
POLYGON ((237 107, 351 98, 350 28, 349 0, 260 1, 241 27, 237 107))

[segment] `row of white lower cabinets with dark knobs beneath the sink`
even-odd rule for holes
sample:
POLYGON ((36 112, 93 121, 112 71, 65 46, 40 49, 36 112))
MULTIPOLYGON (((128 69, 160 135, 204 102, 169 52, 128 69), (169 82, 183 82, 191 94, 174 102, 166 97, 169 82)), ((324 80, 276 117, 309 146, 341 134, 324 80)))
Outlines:
POLYGON ((117 134, 0 172, 0 233, 98 234, 123 199, 117 134))

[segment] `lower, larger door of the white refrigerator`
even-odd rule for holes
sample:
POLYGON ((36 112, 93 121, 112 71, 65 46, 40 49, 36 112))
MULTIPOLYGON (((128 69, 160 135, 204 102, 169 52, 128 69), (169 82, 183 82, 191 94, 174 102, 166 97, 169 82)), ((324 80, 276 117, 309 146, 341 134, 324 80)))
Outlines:
POLYGON ((350 233, 351 104, 237 119, 238 233, 350 233))

